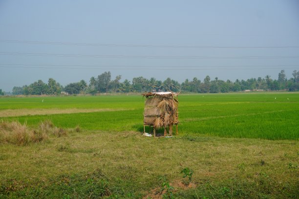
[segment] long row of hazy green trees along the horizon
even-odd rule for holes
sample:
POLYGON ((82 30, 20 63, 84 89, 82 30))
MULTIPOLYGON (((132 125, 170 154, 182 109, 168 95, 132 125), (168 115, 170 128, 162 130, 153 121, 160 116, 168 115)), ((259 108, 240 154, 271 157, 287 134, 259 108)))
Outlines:
POLYGON ((176 80, 167 78, 166 80, 156 80, 155 78, 146 79, 144 77, 133 78, 132 82, 124 80, 121 82, 121 75, 111 80, 110 71, 104 72, 98 77, 91 77, 87 83, 85 80, 69 83, 65 87, 56 80, 50 78, 47 83, 42 80, 35 81, 30 85, 22 87, 15 86, 13 95, 59 95, 61 92, 68 94, 92 94, 97 93, 130 93, 130 92, 152 92, 152 91, 173 91, 173 92, 192 92, 192 93, 227 93, 240 92, 245 90, 264 90, 264 91, 299 91, 299 71, 293 71, 293 77, 286 78, 285 71, 281 70, 278 80, 273 80, 269 75, 265 78, 251 78, 248 80, 211 80, 206 76, 203 81, 193 78, 186 79, 179 83, 176 80))

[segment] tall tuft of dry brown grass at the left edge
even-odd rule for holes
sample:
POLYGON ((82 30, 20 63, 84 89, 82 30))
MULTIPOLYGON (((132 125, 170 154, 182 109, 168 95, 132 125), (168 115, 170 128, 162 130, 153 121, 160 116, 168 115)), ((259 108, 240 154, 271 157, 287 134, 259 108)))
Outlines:
POLYGON ((57 128, 50 120, 40 123, 38 129, 30 129, 26 123, 18 121, 0 122, 0 143, 10 143, 16 145, 27 145, 29 143, 41 142, 49 136, 66 136, 67 132, 62 128, 57 128))

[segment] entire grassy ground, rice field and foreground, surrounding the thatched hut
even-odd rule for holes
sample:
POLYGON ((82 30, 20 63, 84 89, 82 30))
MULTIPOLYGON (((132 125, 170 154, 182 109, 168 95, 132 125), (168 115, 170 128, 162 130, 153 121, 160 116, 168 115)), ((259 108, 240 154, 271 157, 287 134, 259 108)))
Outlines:
POLYGON ((299 93, 180 95, 172 139, 141 135, 143 106, 140 95, 0 98, 2 120, 68 131, 0 143, 0 198, 157 198, 161 176, 175 198, 298 198, 299 93), (185 167, 192 188, 179 184, 185 167))

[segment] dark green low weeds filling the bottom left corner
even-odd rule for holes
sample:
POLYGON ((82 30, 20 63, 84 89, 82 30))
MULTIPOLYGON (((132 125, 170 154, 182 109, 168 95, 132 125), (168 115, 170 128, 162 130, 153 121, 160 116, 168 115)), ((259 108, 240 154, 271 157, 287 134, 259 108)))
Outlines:
POLYGON ((5 179, 0 184, 0 198, 99 199, 112 195, 109 186, 100 169, 85 175, 61 175, 37 184, 30 184, 29 180, 5 179), (24 193, 28 195, 24 197, 24 193))

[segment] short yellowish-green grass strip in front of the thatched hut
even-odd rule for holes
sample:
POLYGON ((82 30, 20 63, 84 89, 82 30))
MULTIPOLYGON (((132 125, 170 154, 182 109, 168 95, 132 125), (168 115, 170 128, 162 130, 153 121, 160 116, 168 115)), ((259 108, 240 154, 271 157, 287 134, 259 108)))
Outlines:
POLYGON ((153 139, 137 132, 89 132, 28 147, 0 145, 3 155, 10 157, 0 162, 0 181, 30 179, 51 184, 62 175, 84 176, 101 169, 109 186, 146 196, 160 187, 159 176, 170 182, 182 180, 180 171, 189 167, 198 188, 232 180, 246 186, 233 182, 224 186, 249 194, 247 198, 258 198, 256 194, 265 190, 279 198, 288 191, 292 194, 298 183, 298 148, 296 140, 153 139), (290 168, 290 163, 296 167, 290 168))

